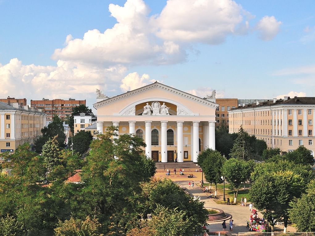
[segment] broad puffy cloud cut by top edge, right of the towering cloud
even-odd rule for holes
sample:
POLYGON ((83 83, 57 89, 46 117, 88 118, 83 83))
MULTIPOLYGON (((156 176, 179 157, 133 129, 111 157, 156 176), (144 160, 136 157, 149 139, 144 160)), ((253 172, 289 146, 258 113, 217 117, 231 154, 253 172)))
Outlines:
POLYGON ((231 0, 169 0, 151 24, 164 40, 219 44, 237 32, 244 15, 248 13, 231 0))

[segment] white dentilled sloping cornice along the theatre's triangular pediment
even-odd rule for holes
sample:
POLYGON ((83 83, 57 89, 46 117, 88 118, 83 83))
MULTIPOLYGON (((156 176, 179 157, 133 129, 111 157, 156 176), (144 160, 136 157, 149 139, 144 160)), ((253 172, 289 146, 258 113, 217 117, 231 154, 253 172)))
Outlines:
POLYGON ((180 91, 180 90, 178 90, 178 89, 174 89, 174 88, 172 88, 172 87, 169 87, 169 86, 167 86, 167 85, 164 85, 164 84, 158 83, 158 82, 155 82, 155 83, 146 85, 146 86, 141 87, 141 88, 139 88, 139 89, 135 89, 135 90, 132 90, 132 91, 123 93, 123 94, 121 94, 121 95, 117 95, 117 96, 115 96, 115 97, 106 99, 106 100, 104 100, 104 101, 96 102, 96 103, 93 104, 93 106, 94 106, 95 109, 97 109, 97 108, 99 108, 99 107, 106 106, 107 104, 111 104, 111 103, 113 103, 113 102, 116 102, 116 101, 120 101, 120 100, 129 98, 129 97, 131 97, 131 96, 133 96, 133 95, 137 95, 137 94, 143 93, 143 92, 148 91, 148 90, 151 90, 151 89, 161 89, 161 90, 167 91, 167 92, 169 92, 169 93, 172 93, 172 94, 176 94, 176 95, 178 95, 178 96, 181 96, 181 97, 183 97, 183 98, 186 98, 186 99, 189 99, 189 100, 192 100, 192 101, 201 103, 201 104, 203 104, 204 106, 209 106, 209 107, 213 107, 213 108, 216 108, 216 107, 219 106, 218 104, 216 104, 216 103, 214 103, 214 102, 207 101, 207 100, 202 99, 202 98, 200 98, 200 97, 197 97, 197 96, 195 96, 195 95, 192 95, 192 94, 189 94, 189 93, 180 91))

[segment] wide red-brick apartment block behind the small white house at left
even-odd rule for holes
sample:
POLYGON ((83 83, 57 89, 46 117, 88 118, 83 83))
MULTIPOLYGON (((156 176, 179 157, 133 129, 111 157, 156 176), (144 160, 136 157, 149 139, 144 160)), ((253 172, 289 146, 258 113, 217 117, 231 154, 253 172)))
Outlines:
POLYGON ((51 121, 54 115, 58 115, 60 119, 65 120, 67 116, 71 116, 72 109, 80 104, 86 105, 85 100, 75 100, 69 98, 69 100, 63 99, 45 99, 31 100, 31 107, 42 109, 47 114, 47 120, 51 121))

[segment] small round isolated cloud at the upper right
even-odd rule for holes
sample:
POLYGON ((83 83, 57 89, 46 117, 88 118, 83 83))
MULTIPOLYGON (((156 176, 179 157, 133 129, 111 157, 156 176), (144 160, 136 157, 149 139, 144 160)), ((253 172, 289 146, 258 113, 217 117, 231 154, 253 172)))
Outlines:
POLYGON ((280 31, 281 21, 277 21, 274 16, 264 16, 257 23, 257 30, 260 33, 260 38, 262 40, 268 41, 272 40, 278 32, 280 31))

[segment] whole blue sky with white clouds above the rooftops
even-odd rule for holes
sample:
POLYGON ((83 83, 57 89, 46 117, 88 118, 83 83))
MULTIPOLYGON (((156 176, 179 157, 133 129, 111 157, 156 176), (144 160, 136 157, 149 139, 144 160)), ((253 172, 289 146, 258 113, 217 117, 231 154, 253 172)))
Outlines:
POLYGON ((313 1, 0 0, 0 22, 0 97, 315 96, 313 1))

